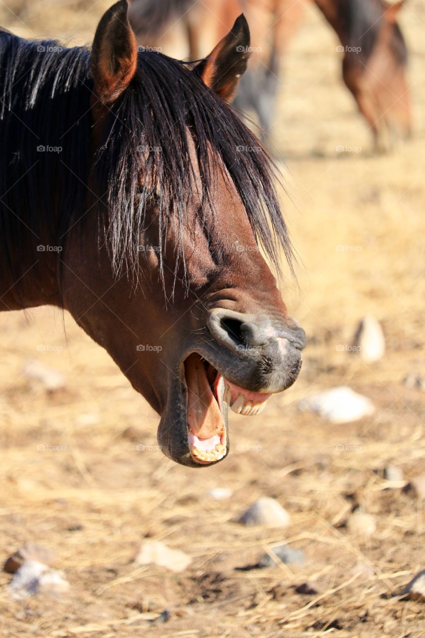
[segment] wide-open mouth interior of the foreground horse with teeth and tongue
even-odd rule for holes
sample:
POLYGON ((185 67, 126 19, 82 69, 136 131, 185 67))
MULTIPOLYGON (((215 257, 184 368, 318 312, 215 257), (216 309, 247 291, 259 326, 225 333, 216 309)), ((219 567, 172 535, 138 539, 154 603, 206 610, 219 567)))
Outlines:
POLYGON ((228 450, 227 406, 237 414, 253 416, 264 410, 270 394, 230 383, 197 352, 184 361, 184 380, 190 454, 196 463, 216 463, 228 450))

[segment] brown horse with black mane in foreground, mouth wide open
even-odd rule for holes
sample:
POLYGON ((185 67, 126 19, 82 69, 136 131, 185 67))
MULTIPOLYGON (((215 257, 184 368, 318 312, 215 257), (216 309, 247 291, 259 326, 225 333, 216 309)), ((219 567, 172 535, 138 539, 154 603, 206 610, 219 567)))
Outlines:
POLYGON ((249 47, 241 15, 195 68, 140 50, 126 0, 91 48, 0 32, 0 309, 69 311, 193 468, 227 456, 229 407, 294 383, 306 343, 278 288, 276 169, 230 105, 249 47))

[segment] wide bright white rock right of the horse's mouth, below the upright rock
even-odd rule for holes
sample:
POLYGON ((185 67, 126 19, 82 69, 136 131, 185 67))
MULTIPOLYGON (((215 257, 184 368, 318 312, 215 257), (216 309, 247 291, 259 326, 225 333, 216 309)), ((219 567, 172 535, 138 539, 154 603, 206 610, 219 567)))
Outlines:
POLYGON ((348 423, 375 412, 375 407, 368 397, 357 394, 345 385, 312 394, 301 399, 298 406, 300 410, 310 410, 332 423, 348 423))

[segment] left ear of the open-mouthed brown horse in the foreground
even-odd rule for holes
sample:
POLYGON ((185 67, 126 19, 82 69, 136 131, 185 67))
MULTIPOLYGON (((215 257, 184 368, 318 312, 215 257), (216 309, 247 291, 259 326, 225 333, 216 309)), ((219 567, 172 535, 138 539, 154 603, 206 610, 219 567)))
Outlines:
POLYGON ((94 93, 112 104, 128 87, 137 69, 137 43, 127 18, 128 4, 119 0, 100 20, 91 49, 94 93))

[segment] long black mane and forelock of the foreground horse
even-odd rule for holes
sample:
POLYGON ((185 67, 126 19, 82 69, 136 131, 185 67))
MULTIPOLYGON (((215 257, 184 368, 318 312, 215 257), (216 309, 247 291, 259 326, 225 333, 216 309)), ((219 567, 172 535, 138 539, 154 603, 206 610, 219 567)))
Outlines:
MULTIPOLYGON (((156 52, 138 56, 137 75, 114 105, 107 138, 91 161, 89 50, 0 33, 1 258, 19 271, 19 251, 34 251, 36 258, 41 237, 63 246, 68 230, 98 211, 100 241, 107 241, 115 271, 136 271, 138 237, 155 198, 163 276, 167 226, 184 225, 195 185, 189 160, 195 142, 199 214, 206 203, 214 204, 214 168, 220 163, 258 243, 280 272, 279 246, 289 263, 292 252, 267 152, 191 67, 156 52), (40 146, 61 151, 43 152, 40 146)), ((176 251, 177 263, 184 262, 183 244, 176 251)))

